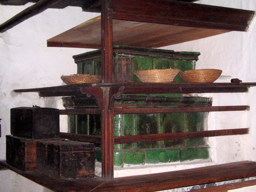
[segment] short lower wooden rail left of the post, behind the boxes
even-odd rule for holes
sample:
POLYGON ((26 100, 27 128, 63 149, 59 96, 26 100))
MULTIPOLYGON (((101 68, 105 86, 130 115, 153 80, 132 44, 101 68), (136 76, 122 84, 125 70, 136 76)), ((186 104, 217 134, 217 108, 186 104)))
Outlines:
POLYGON ((60 137, 64 139, 77 140, 77 141, 88 142, 88 143, 96 143, 96 144, 101 143, 100 136, 88 136, 88 135, 82 135, 82 134, 60 132, 60 137))

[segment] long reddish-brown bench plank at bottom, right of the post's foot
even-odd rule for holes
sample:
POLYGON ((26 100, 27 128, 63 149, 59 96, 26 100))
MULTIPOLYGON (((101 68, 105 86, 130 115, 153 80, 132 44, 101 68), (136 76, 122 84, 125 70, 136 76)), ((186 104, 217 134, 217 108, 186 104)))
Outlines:
POLYGON ((172 188, 206 184, 223 180, 239 179, 238 175, 250 177, 255 175, 255 165, 250 162, 238 162, 208 166, 182 171, 148 174, 143 176, 121 177, 110 180, 95 192, 101 191, 127 191, 127 192, 153 192, 172 188), (253 170, 252 170, 253 169, 253 170), (172 178, 172 179, 171 179, 172 178))

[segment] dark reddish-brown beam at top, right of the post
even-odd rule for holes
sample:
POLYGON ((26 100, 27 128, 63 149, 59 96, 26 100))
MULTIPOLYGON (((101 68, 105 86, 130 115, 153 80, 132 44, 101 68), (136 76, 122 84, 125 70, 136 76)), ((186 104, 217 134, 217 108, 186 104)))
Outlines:
POLYGON ((175 0, 113 0, 113 19, 248 31, 255 12, 175 0))

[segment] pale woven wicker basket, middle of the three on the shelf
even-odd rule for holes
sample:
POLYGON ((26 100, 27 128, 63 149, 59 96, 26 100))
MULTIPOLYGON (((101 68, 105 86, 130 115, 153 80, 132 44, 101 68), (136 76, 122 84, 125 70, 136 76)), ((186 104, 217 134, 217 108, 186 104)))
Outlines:
POLYGON ((178 75, 180 69, 148 69, 134 71, 143 83, 169 83, 178 75))

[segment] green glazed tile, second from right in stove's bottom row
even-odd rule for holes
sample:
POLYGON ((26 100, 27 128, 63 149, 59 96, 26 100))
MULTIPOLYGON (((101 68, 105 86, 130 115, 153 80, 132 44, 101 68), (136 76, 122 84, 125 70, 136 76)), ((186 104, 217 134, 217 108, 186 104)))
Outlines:
POLYGON ((145 150, 145 163, 168 163, 180 160, 180 150, 145 150))

